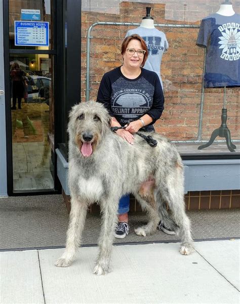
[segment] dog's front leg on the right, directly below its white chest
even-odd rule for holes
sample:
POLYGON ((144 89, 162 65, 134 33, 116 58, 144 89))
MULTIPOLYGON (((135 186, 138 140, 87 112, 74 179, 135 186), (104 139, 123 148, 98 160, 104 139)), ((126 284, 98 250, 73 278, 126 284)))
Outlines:
POLYGON ((98 242, 99 253, 93 273, 104 275, 109 272, 113 232, 117 222, 118 200, 108 200, 101 204, 102 226, 98 242))

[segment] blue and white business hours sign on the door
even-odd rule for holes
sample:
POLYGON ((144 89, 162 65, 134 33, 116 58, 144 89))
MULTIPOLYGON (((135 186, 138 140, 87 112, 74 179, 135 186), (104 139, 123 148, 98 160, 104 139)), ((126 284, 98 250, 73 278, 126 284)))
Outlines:
POLYGON ((49 47, 49 22, 14 21, 15 46, 49 47))

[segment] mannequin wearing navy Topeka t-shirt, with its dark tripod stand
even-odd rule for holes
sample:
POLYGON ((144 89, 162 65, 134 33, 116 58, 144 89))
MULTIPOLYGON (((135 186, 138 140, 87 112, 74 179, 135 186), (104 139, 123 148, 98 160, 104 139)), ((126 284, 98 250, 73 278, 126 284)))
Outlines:
POLYGON ((204 18, 198 32, 196 45, 206 48, 204 88, 224 88, 222 124, 215 129, 207 144, 210 146, 217 136, 225 137, 228 149, 234 152, 227 128, 226 88, 240 87, 240 15, 235 14, 232 4, 225 0, 217 13, 204 18))

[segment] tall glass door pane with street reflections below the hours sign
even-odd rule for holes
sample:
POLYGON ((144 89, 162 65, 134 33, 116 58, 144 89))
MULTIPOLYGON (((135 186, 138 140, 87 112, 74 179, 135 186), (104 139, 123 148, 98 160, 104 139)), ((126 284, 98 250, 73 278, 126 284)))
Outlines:
POLYGON ((14 191, 54 188, 52 56, 10 57, 14 191))

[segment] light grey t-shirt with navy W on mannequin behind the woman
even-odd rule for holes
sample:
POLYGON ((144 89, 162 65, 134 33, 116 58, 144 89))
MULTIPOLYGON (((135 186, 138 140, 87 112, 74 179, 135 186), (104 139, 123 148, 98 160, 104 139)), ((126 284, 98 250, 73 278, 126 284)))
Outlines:
POLYGON ((126 37, 132 34, 138 34, 146 42, 148 58, 144 68, 157 73, 163 87, 161 78, 161 62, 164 52, 166 52, 168 49, 168 41, 165 33, 156 28, 139 26, 137 28, 130 29, 126 34, 126 37))

